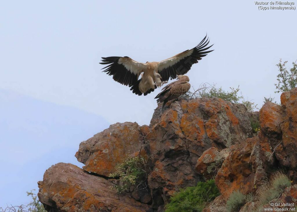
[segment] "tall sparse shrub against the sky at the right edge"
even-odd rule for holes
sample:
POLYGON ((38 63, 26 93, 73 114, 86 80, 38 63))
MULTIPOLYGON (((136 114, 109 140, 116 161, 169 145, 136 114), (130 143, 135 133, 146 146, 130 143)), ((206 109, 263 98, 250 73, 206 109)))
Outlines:
POLYGON ((297 86, 297 64, 296 61, 292 62, 293 67, 290 70, 287 70, 286 63, 288 61, 282 62, 282 59, 279 59, 279 63, 276 65, 279 69, 279 74, 277 75, 277 84, 274 84, 277 91, 285 92, 289 91, 292 88, 297 86))

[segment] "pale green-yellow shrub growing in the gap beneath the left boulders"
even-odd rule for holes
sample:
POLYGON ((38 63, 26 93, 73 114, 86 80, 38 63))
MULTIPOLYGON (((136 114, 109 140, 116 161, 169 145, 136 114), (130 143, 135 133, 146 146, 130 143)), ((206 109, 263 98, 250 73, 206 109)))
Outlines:
POLYGON ((133 185, 140 185, 146 181, 146 172, 143 170, 142 157, 127 157, 124 162, 116 165, 116 171, 110 178, 119 178, 119 185, 114 186, 117 193, 129 189, 133 185))

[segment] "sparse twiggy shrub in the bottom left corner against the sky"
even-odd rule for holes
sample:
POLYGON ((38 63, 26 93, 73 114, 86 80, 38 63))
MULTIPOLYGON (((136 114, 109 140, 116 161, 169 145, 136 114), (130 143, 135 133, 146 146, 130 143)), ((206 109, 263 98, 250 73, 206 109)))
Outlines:
POLYGON ((20 205, 20 206, 10 206, 6 208, 1 208, 1 212, 46 212, 46 210, 43 207, 43 204, 38 200, 38 197, 36 194, 33 193, 35 189, 31 190, 30 192, 27 192, 27 196, 31 196, 32 201, 27 205, 20 205))

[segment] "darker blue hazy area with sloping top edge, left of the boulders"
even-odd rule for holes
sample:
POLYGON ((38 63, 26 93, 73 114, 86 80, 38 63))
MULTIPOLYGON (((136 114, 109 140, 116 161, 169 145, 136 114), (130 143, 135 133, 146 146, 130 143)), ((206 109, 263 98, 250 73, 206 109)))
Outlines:
POLYGON ((53 164, 82 167, 79 143, 109 126, 98 115, 3 89, 0 111, 0 207, 28 203, 26 191, 38 189, 53 164))

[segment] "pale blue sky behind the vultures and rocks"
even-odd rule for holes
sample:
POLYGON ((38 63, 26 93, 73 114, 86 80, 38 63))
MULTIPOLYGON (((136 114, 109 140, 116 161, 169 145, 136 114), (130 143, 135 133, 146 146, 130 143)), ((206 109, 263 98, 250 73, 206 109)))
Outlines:
MULTIPOLYGON (((193 48, 207 32, 214 51, 188 72, 192 86, 240 85, 260 106, 264 96, 279 101, 275 64, 297 59, 296 14, 259 11, 254 1, 2 1, 1 191, 20 188, 13 179, 29 190, 51 164, 75 163, 80 141, 105 123, 149 124, 159 90, 132 94, 100 71, 102 56, 160 61, 193 48), (3 96, 13 99, 3 103, 3 96), (19 178, 29 176, 24 170, 38 172, 36 179, 19 178)), ((0 196, 0 205, 3 198, 22 200, 0 196)))

